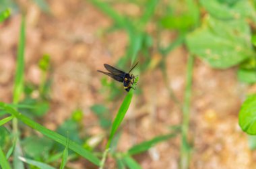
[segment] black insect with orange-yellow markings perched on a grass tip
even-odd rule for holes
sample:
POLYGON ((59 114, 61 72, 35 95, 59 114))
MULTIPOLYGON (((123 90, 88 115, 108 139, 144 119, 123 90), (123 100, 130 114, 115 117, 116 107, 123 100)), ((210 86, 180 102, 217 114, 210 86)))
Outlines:
MULTIPOLYGON (((131 68, 131 70, 133 70, 133 68, 135 68, 135 66, 137 66, 138 62, 131 68)), ((133 74, 130 74, 131 70, 126 73, 123 72, 122 70, 118 70, 117 68, 114 68, 113 66, 110 66, 109 64, 104 64, 104 67, 106 68, 106 70, 108 70, 108 72, 103 72, 101 70, 97 70, 98 72, 102 72, 112 78, 114 78, 115 80, 119 81, 119 82, 123 82, 123 86, 125 88, 125 91, 129 92, 133 85, 133 83, 135 83, 135 76, 133 76, 133 74)))

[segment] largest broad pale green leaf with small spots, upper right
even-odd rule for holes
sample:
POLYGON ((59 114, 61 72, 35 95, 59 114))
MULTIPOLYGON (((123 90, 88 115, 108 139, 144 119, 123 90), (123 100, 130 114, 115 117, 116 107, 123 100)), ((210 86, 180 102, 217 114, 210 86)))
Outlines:
POLYGON ((187 36, 187 46, 214 68, 229 68, 254 55, 250 27, 243 20, 206 17, 203 25, 187 36))

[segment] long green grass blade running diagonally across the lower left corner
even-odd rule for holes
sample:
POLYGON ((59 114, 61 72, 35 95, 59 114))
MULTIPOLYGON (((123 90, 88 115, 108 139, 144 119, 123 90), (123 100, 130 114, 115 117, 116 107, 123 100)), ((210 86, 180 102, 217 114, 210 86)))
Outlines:
POLYGON ((69 142, 69 149, 70 150, 73 150, 74 152, 76 152, 80 156, 83 156, 84 158, 86 158, 90 162, 96 164, 97 166, 100 165, 100 160, 98 158, 96 158, 96 156, 94 156, 94 154, 92 154, 88 150, 85 150, 82 146, 79 146, 79 144, 76 144, 75 142, 71 141, 70 139, 67 139, 63 135, 60 135, 59 133, 56 133, 55 131, 51 131, 50 129, 46 129, 46 127, 32 121, 31 119, 29 119, 25 115, 22 115, 22 113, 20 113, 20 112, 16 111, 15 109, 9 107, 5 103, 0 102, 0 107, 2 107, 5 111, 7 111, 7 113, 11 113, 11 115, 15 116, 17 119, 19 119, 20 121, 22 121, 26 125, 32 127, 33 129, 36 129, 36 131, 39 131, 40 133, 42 133, 46 137, 49 137, 49 138, 53 139, 55 142, 58 142, 59 144, 62 144, 64 146, 66 146, 67 142, 69 142))

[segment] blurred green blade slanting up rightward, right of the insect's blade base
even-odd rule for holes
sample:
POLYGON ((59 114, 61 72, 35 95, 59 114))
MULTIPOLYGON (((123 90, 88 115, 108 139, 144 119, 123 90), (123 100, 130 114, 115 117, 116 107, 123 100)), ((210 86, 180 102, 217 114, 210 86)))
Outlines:
POLYGON ((177 133, 171 133, 168 135, 160 135, 158 137, 154 137, 153 139, 150 139, 149 141, 146 142, 142 142, 141 144, 137 144, 135 146, 133 146, 132 148, 130 148, 128 150, 128 154, 130 156, 135 155, 135 154, 139 154, 141 152, 146 152, 147 150, 149 150, 150 148, 152 148, 154 145, 166 141, 167 139, 170 139, 171 137, 175 137, 177 135, 177 133))

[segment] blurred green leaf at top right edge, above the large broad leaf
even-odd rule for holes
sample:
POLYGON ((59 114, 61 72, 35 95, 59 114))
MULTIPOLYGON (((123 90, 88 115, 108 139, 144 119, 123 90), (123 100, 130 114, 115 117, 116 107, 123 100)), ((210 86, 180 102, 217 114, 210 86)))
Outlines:
POLYGON ((245 19, 251 17, 255 20, 255 10, 249 1, 200 1, 201 5, 214 17, 218 19, 245 19))

